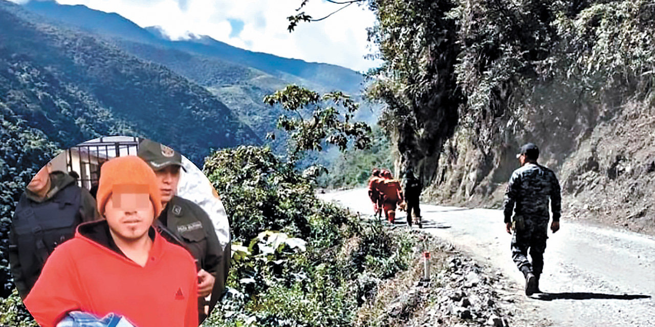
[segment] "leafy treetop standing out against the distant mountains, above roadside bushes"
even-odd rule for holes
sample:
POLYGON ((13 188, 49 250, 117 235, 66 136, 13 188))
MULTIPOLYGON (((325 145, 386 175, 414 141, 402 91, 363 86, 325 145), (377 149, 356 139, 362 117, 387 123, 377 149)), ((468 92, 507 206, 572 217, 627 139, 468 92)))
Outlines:
MULTIPOLYGON (((369 146, 371 128, 364 122, 353 122, 354 113, 359 105, 343 92, 331 92, 320 96, 318 93, 301 86, 290 85, 264 97, 268 105, 280 105, 295 116, 280 116, 278 128, 290 133, 288 146, 290 162, 296 162, 300 155, 309 150, 322 150, 322 143, 327 142, 345 151, 348 141, 354 147, 364 149, 369 146), (322 107, 328 101, 336 106, 343 106, 342 114, 338 107, 322 107), (311 118, 303 117, 303 111, 314 109, 311 118)), ((271 134, 271 137, 275 137, 271 134)))

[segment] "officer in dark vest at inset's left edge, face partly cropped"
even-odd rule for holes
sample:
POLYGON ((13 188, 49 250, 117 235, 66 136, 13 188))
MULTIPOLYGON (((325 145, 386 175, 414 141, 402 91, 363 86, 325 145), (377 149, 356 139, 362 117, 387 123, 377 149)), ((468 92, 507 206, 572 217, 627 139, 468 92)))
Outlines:
POLYGON ((71 175, 48 162, 20 196, 9 232, 9 266, 26 298, 54 248, 73 238, 82 222, 98 220, 96 200, 71 175))

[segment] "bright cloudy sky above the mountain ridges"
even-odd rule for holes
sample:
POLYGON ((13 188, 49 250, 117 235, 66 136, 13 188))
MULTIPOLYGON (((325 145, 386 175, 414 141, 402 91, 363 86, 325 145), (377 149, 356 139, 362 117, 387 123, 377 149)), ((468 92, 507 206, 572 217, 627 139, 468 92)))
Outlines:
MULTIPOLYGON (((11 0, 25 3, 28 0, 11 0)), ((333 63, 366 71, 379 61, 371 53, 366 27, 375 16, 365 6, 350 5, 320 22, 301 23, 293 33, 286 17, 302 0, 56 0, 64 5, 116 12, 141 27, 161 26, 172 39, 189 33, 209 35, 239 48, 310 62, 333 63)), ((341 5, 309 0, 301 11, 321 18, 341 5)))

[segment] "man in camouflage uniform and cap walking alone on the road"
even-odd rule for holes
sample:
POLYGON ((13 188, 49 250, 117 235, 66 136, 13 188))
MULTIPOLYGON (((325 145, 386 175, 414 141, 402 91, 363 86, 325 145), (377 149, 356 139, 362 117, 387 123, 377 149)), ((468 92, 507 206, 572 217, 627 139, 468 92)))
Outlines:
POLYGON ((544 269, 544 250, 548 239, 548 199, 553 213, 550 229, 559 230, 561 194, 552 170, 539 165, 539 149, 533 143, 521 147, 516 156, 521 168, 512 173, 504 201, 505 229, 512 233, 512 258, 525 276, 525 294, 540 293, 539 277, 544 269), (512 225, 514 211, 514 226, 512 225), (527 258, 528 249, 532 263, 527 258))

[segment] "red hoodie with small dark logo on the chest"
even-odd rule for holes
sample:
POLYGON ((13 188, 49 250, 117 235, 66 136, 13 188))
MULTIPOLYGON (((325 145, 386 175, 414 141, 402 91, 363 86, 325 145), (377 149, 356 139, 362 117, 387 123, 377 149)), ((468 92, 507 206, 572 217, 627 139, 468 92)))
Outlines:
POLYGON ((151 228, 153 247, 141 267, 118 250, 108 228, 105 220, 81 224, 52 252, 24 301, 35 320, 54 327, 67 312, 81 310, 116 313, 137 327, 197 327, 191 254, 151 228))

